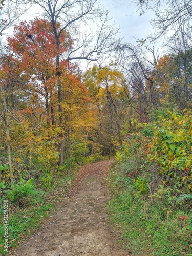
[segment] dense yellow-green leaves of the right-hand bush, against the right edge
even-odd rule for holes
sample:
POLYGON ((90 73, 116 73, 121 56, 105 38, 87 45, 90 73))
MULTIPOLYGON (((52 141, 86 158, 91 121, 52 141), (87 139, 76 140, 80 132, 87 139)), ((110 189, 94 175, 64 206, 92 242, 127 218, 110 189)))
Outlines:
POLYGON ((153 124, 154 136, 147 158, 148 161, 155 159, 159 173, 166 175, 169 184, 174 182, 178 187, 182 184, 182 191, 191 193, 191 113, 168 113, 169 119, 160 117, 159 122, 153 124))

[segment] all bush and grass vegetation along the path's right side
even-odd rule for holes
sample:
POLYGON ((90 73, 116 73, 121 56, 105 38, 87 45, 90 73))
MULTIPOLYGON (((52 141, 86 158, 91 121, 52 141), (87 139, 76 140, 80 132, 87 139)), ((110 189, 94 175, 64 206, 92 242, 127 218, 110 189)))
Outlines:
POLYGON ((135 255, 191 255, 191 113, 157 110, 117 152, 110 221, 135 255))

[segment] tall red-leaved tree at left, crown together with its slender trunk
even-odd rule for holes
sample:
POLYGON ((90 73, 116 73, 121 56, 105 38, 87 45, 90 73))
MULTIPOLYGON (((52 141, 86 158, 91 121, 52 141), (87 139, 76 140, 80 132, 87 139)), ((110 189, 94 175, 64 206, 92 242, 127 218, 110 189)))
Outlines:
MULTIPOLYGON (((57 50, 51 23, 42 19, 21 22, 20 26, 15 26, 14 35, 8 38, 9 48, 16 54, 15 57, 20 61, 20 67, 29 80, 29 86, 23 90, 35 95, 42 103, 45 102, 48 127, 50 121, 55 125, 53 109, 57 102, 55 95, 58 82, 56 56, 72 47, 72 40, 66 31, 62 31, 59 40, 60 49, 57 50)), ((72 70, 73 66, 63 59, 60 63, 62 73, 66 73, 65 70, 69 68, 72 70)))

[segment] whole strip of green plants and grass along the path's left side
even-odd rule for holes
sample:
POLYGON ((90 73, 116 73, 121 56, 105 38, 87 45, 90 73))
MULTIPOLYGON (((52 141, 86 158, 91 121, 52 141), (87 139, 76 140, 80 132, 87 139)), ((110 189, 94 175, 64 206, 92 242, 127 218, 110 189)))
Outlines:
POLYGON ((77 175, 77 166, 68 174, 60 171, 49 182, 21 179, 17 185, 7 189, 0 199, 0 255, 6 255, 4 229, 4 200, 8 200, 8 251, 17 247, 55 210, 59 198, 65 197, 77 175))

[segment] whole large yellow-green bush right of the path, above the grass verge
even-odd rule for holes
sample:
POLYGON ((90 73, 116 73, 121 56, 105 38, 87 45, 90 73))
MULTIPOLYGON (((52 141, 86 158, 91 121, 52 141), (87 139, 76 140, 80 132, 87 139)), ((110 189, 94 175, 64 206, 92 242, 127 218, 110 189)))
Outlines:
MULTIPOLYGON (((153 113, 153 120, 153 123, 137 125, 137 132, 129 136, 117 152, 117 160, 125 168, 127 159, 135 154, 139 164, 135 182, 138 175, 147 177, 149 183, 153 180, 153 196, 166 198, 174 205, 179 194, 191 194, 192 191, 191 112, 184 110, 181 114, 158 109, 153 113)), ((136 184, 147 193, 147 186, 142 188, 142 181, 136 184)))

